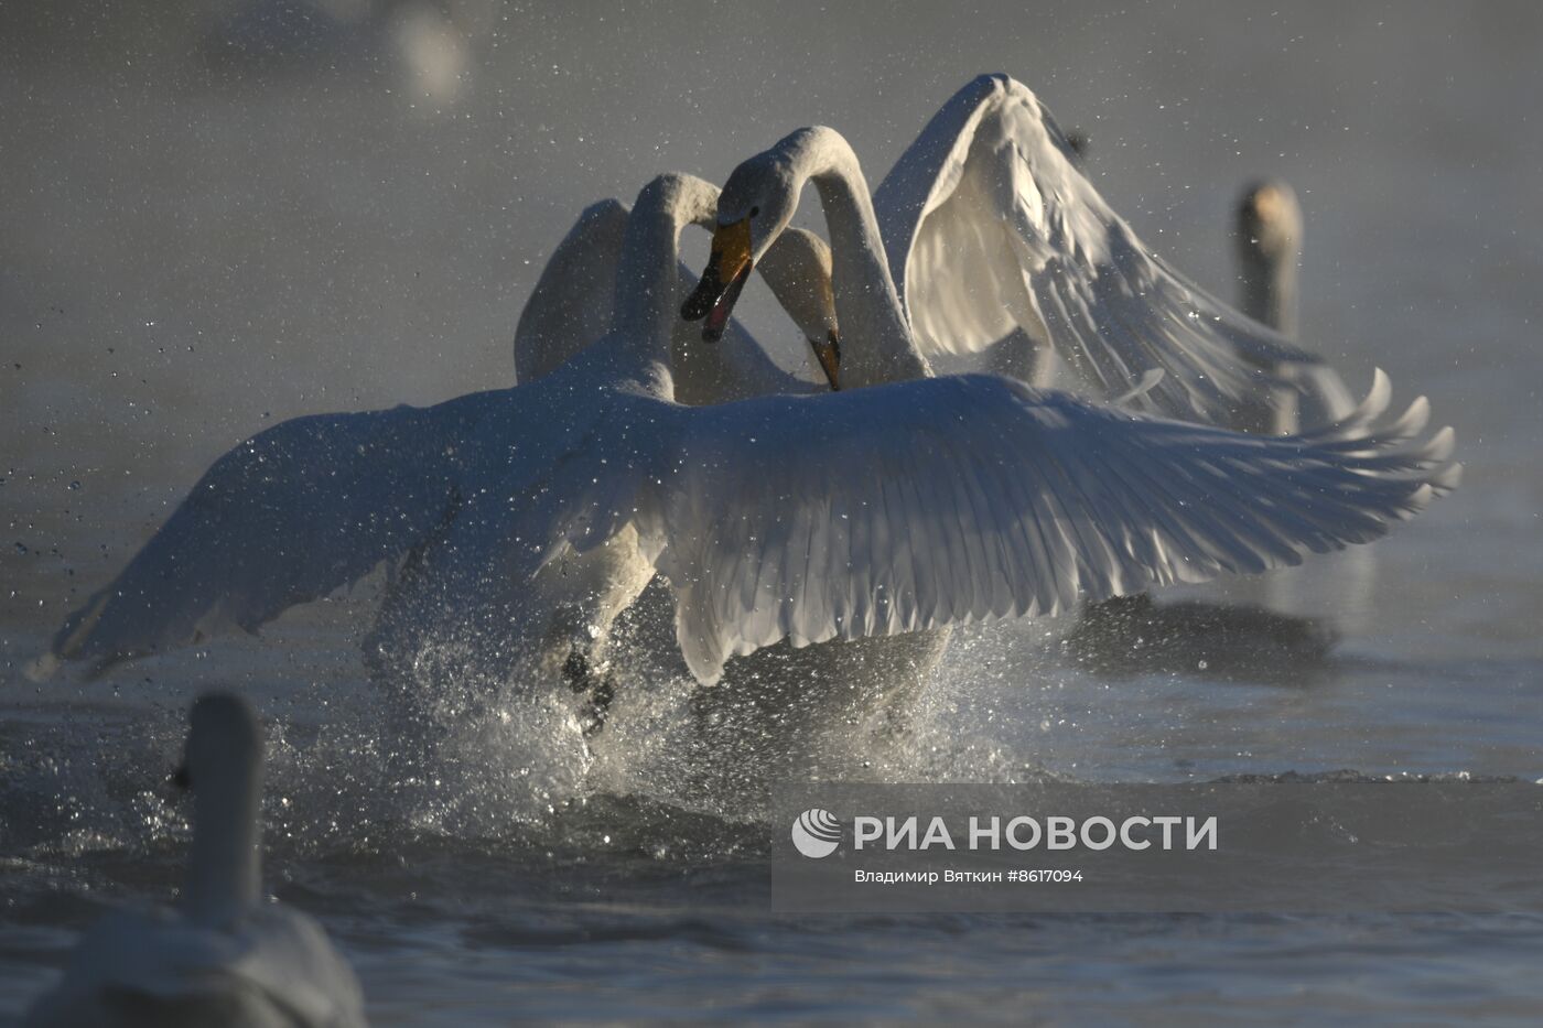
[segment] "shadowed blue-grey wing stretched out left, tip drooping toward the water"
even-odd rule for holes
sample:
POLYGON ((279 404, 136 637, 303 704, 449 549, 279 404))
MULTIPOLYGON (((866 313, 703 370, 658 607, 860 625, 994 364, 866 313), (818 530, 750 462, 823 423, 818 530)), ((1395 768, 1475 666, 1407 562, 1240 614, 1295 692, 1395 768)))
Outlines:
POLYGON ((455 503, 455 438, 483 397, 321 414, 241 443, 54 637, 106 664, 255 631, 427 539, 455 503))

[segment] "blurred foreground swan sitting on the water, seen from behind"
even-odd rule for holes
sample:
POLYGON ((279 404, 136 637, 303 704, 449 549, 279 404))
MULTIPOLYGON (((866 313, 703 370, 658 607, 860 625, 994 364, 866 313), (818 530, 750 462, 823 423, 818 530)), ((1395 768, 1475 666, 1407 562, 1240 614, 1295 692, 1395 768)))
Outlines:
POLYGON ((239 696, 193 704, 177 775, 193 792, 181 909, 120 911, 76 948, 26 1017, 83 1025, 364 1025, 364 997, 321 925, 262 901, 262 730, 239 696))

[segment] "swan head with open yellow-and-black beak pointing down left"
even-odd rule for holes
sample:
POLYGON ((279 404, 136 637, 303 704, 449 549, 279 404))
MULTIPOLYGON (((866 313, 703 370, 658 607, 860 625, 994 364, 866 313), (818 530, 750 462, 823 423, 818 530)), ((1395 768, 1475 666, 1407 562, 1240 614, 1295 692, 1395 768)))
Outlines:
POLYGON ((798 210, 799 182, 773 151, 750 157, 728 176, 717 198, 717 224, 707 270, 680 304, 687 321, 707 320, 702 338, 716 341, 734 310, 745 279, 798 210))

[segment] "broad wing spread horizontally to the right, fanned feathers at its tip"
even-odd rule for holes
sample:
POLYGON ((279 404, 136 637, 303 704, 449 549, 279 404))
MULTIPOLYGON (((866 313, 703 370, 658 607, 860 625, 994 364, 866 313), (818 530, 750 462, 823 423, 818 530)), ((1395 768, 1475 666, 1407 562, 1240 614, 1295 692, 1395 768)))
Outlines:
POLYGON ((1413 441, 1424 400, 1373 426, 1387 398, 1379 374, 1352 418, 1258 437, 986 375, 768 397, 684 412, 679 446, 605 503, 637 511, 687 662, 716 681, 782 637, 1049 614, 1375 539, 1458 472, 1449 431, 1413 441))

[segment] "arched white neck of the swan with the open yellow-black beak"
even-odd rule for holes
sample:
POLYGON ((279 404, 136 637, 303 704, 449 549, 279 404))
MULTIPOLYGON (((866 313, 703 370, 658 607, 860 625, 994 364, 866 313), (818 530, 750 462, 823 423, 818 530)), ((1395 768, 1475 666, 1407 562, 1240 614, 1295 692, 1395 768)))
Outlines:
POLYGON ((867 181, 850 144, 833 128, 801 128, 772 154, 785 161, 795 190, 813 181, 830 233, 836 320, 847 340, 841 378, 850 386, 932 374, 906 323, 873 215, 867 181))

